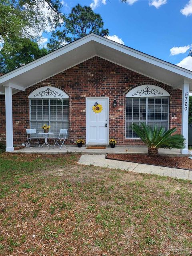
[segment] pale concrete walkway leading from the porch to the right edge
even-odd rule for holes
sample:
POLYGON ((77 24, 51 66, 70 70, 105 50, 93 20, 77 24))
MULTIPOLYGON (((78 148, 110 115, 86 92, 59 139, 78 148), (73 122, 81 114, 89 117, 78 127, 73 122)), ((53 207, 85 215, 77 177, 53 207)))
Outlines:
POLYGON ((111 169, 121 169, 127 170, 129 172, 158 174, 160 176, 168 176, 171 178, 192 180, 192 171, 189 170, 105 159, 105 155, 101 154, 82 155, 78 162, 85 165, 94 165, 111 169))

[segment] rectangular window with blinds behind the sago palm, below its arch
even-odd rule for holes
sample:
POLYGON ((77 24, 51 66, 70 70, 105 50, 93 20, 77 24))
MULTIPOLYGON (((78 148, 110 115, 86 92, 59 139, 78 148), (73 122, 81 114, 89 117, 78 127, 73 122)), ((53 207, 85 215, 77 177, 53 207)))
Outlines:
POLYGON ((146 122, 151 128, 155 125, 169 127, 169 97, 126 98, 126 138, 138 138, 131 125, 146 122))

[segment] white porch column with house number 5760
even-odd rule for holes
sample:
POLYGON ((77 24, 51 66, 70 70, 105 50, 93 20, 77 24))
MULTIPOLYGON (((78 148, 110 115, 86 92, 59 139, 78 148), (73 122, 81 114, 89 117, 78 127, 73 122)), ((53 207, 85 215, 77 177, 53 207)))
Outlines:
POLYGON ((189 83, 184 82, 182 86, 182 135, 186 139, 185 148, 182 154, 189 154, 188 151, 188 116, 189 116, 189 83))

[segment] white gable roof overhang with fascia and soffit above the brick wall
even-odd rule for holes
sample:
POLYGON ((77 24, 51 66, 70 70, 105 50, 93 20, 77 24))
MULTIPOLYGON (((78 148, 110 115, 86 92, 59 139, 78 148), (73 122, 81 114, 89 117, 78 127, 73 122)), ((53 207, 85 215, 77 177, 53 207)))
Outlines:
POLYGON ((0 92, 4 92, 4 86, 7 84, 13 88, 13 93, 25 90, 94 56, 173 88, 180 88, 184 81, 189 82, 192 90, 190 70, 92 33, 0 76, 0 92))

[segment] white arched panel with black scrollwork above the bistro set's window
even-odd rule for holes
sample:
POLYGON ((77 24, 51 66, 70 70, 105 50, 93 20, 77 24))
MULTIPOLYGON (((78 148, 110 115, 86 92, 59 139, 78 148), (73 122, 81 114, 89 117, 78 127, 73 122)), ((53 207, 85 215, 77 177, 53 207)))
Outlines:
POLYGON ((69 98, 69 96, 56 87, 44 86, 31 92, 28 98, 69 98))

